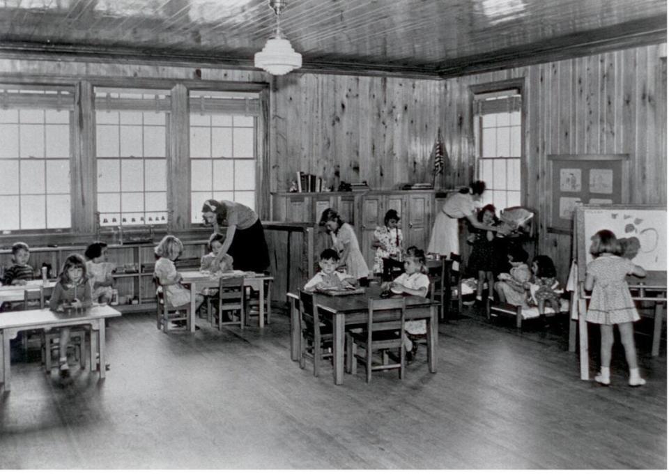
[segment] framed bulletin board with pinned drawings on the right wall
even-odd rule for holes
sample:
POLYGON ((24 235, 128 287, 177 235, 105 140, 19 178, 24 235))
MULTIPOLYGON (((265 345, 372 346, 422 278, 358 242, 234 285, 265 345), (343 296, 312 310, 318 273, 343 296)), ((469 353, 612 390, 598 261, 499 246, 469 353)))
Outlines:
POLYGON ((629 156, 548 155, 551 189, 548 193, 548 231, 571 233, 578 205, 626 204, 629 156))

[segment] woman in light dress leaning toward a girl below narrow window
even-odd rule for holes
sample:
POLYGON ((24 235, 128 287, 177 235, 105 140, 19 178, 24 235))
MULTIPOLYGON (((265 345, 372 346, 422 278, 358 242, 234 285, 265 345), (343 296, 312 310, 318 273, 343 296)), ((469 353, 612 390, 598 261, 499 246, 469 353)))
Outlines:
POLYGON ((460 254, 460 240, 458 236, 458 220, 466 218, 472 227, 479 230, 499 232, 498 227, 490 227, 479 222, 476 213, 475 201, 481 199, 486 191, 486 183, 474 182, 464 187, 456 194, 449 195, 441 210, 437 213, 430 235, 430 244, 427 252, 449 256, 451 253, 460 254))

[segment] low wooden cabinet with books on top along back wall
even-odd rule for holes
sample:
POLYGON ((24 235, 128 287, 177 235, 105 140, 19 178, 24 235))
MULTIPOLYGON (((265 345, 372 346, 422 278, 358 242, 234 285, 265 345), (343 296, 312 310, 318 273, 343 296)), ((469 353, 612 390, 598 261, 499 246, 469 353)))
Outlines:
POLYGON ((315 225, 314 260, 331 241, 318 227, 325 208, 334 208, 342 219, 353 226, 367 266, 374 267, 374 230, 383 225, 383 217, 391 208, 401 217, 405 247, 415 245, 426 249, 433 222, 433 190, 369 190, 364 192, 274 193, 272 220, 309 222, 315 225))

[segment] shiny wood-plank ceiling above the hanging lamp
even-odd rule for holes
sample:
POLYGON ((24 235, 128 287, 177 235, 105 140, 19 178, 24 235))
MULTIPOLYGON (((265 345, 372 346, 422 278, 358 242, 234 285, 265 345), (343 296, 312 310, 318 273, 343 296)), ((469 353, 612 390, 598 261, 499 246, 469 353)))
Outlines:
MULTIPOLYGON (((440 75, 666 42, 663 0, 289 0, 304 70, 440 75)), ((0 0, 0 52, 252 67, 267 0, 0 0)))

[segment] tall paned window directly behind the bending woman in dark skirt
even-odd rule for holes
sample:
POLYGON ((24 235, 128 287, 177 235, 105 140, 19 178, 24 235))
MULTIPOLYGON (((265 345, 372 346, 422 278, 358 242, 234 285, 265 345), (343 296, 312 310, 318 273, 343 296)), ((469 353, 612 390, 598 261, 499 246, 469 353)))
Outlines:
POLYGON ((190 93, 191 221, 202 220, 202 203, 227 199, 256 205, 258 95, 190 93))

